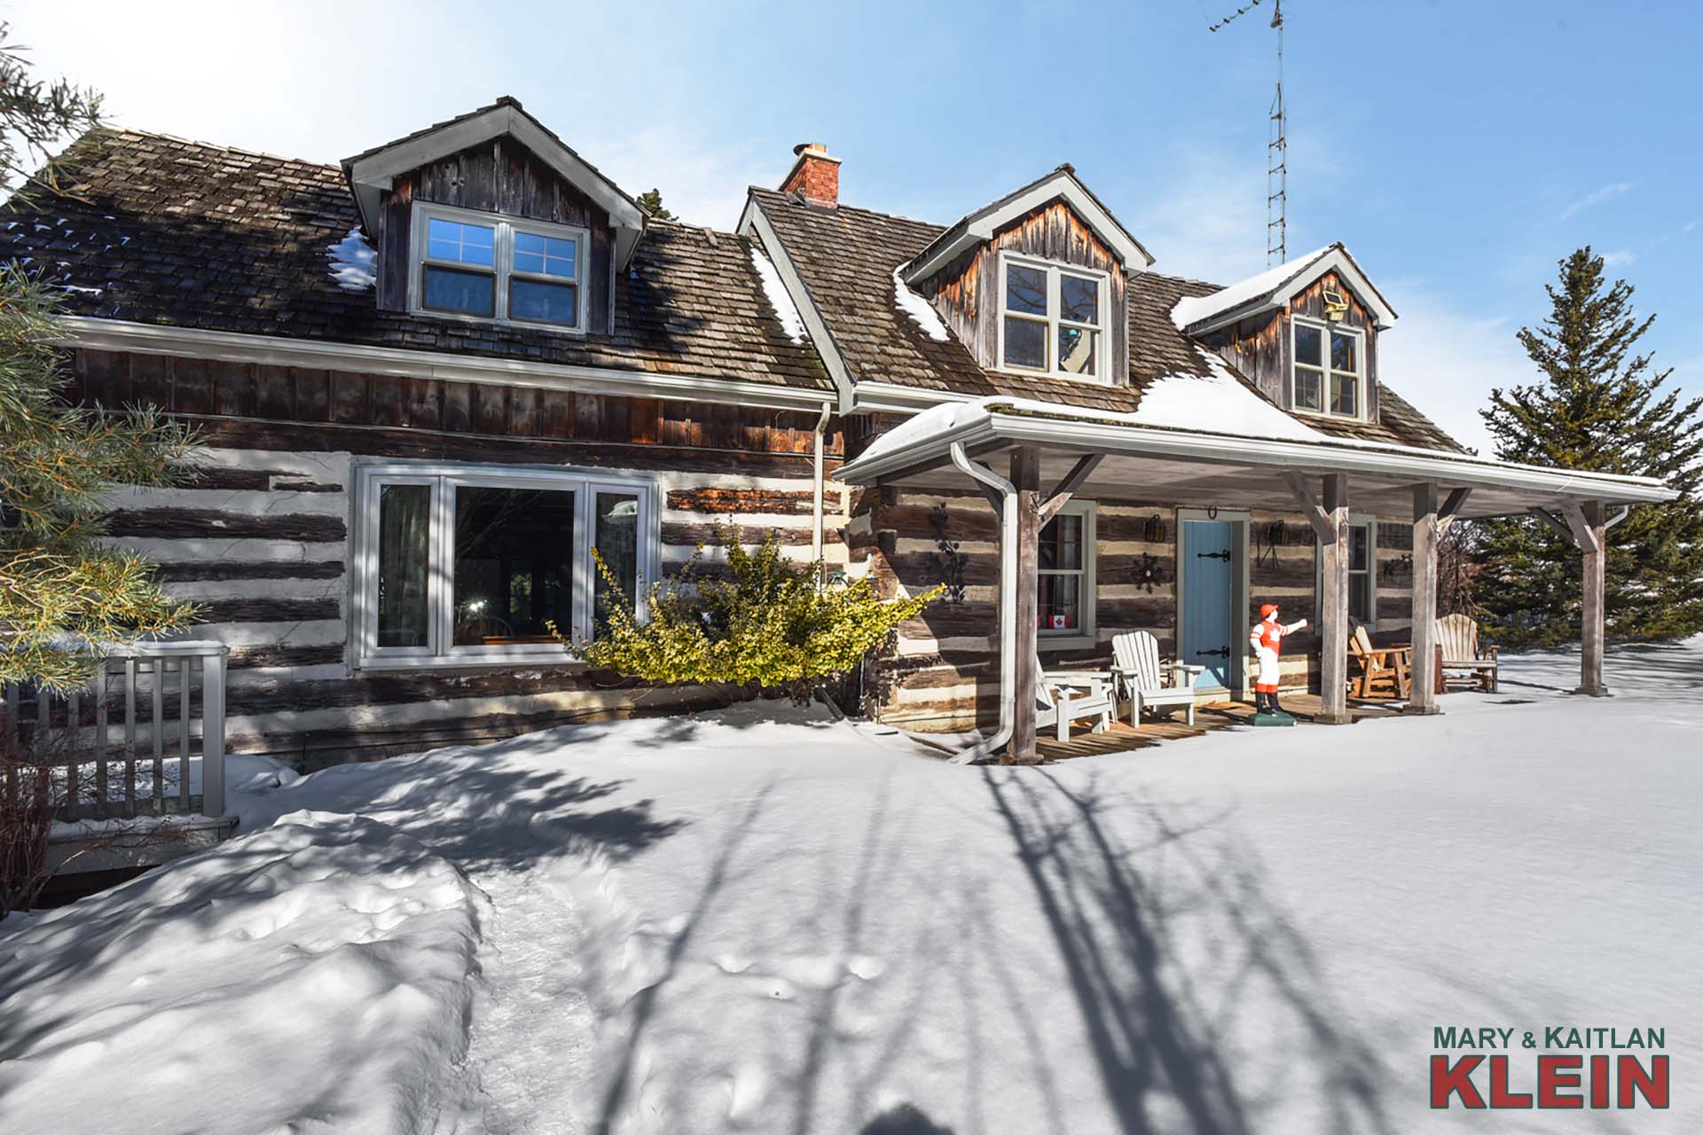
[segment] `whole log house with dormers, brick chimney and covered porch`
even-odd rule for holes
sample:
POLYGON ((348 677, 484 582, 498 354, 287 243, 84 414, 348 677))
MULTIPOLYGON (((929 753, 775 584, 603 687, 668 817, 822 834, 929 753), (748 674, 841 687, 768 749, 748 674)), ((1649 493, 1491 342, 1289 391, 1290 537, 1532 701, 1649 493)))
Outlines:
POLYGON ((1381 381, 1396 313, 1345 247, 1165 276, 1068 165, 942 226, 841 202, 807 145, 714 230, 645 216, 513 99, 335 167, 138 131, 66 165, 0 240, 65 291, 78 398, 199 432, 192 480, 118 490, 111 536, 230 648, 238 752, 714 703, 589 670, 547 623, 596 635, 593 548, 642 596, 717 522, 829 579, 945 584, 867 708, 998 721, 981 752, 1032 754, 1035 655, 1104 662, 1131 628, 1201 698, 1243 694, 1265 601, 1316 628, 1284 677, 1323 720, 1356 623, 1415 642, 1434 710, 1451 516, 1575 536, 1601 693, 1609 510, 1671 497, 1465 453, 1381 381))

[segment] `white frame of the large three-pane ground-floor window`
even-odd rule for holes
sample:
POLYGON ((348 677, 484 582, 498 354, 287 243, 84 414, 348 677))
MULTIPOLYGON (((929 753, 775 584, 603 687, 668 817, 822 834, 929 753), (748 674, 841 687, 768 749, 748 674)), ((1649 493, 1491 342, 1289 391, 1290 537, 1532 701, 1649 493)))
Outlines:
POLYGON ((349 572, 349 628, 354 645, 356 669, 422 669, 494 665, 502 662, 576 662, 560 643, 502 643, 456 647, 451 579, 455 563, 455 488, 463 485, 501 488, 572 490, 574 499, 574 577, 572 577, 572 631, 589 636, 593 626, 593 572, 591 533, 598 492, 630 493, 639 499, 639 563, 634 585, 634 604, 642 621, 647 618, 645 592, 661 572, 661 490, 657 482, 642 476, 610 475, 601 470, 567 466, 502 466, 479 463, 381 461, 363 463, 354 470, 353 495, 353 551, 354 570, 349 572), (429 485, 431 528, 427 546, 426 604, 429 611, 427 645, 378 645, 378 495, 380 485, 429 485))

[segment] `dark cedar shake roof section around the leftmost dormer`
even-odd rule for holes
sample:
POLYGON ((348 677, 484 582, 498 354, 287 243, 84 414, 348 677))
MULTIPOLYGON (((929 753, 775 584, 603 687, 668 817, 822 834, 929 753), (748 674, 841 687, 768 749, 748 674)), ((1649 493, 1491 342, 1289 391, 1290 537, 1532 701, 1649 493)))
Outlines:
POLYGON ((94 131, 65 155, 68 197, 0 208, 0 259, 66 288, 75 315, 625 371, 833 390, 782 330, 732 233, 651 221, 615 279, 615 334, 380 311, 332 277, 359 225, 335 165, 138 131, 94 131))

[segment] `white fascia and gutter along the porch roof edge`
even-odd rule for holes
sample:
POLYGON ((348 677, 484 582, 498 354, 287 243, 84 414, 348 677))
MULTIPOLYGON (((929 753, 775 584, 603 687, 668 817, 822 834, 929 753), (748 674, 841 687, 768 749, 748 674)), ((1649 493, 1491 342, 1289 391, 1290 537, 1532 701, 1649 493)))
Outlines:
POLYGON ((1674 500, 1679 495, 1674 488, 1652 476, 1546 470, 1531 465, 1432 454, 1395 446, 1356 448, 1333 446, 1330 442, 1269 441, 1017 414, 988 414, 971 419, 949 431, 918 437, 916 442, 897 453, 887 453, 870 461, 850 461, 840 466, 834 476, 852 485, 865 485, 882 476, 940 465, 950 459, 954 442, 962 444, 966 449, 1018 442, 1081 453, 1180 458, 1213 465, 1255 465, 1308 473, 1362 473, 1393 482, 1482 485, 1550 493, 1553 497, 1611 500, 1616 504, 1660 504, 1674 500))

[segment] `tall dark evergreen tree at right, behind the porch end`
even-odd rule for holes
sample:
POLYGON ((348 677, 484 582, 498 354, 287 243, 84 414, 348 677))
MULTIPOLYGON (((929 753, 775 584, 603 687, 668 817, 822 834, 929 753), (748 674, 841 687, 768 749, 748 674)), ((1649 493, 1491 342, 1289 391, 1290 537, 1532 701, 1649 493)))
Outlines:
MULTIPOLYGON (((1560 260, 1551 311, 1519 342, 1543 376, 1494 390, 1480 414, 1505 461, 1660 476, 1679 490, 1609 529, 1608 633, 1676 638, 1703 630, 1703 398, 1683 400, 1672 369, 1638 352, 1655 317, 1633 315, 1633 288, 1608 284, 1589 247, 1560 260)), ((1579 550, 1536 519, 1483 522, 1473 601, 1509 647, 1572 642, 1580 625, 1579 550)))

